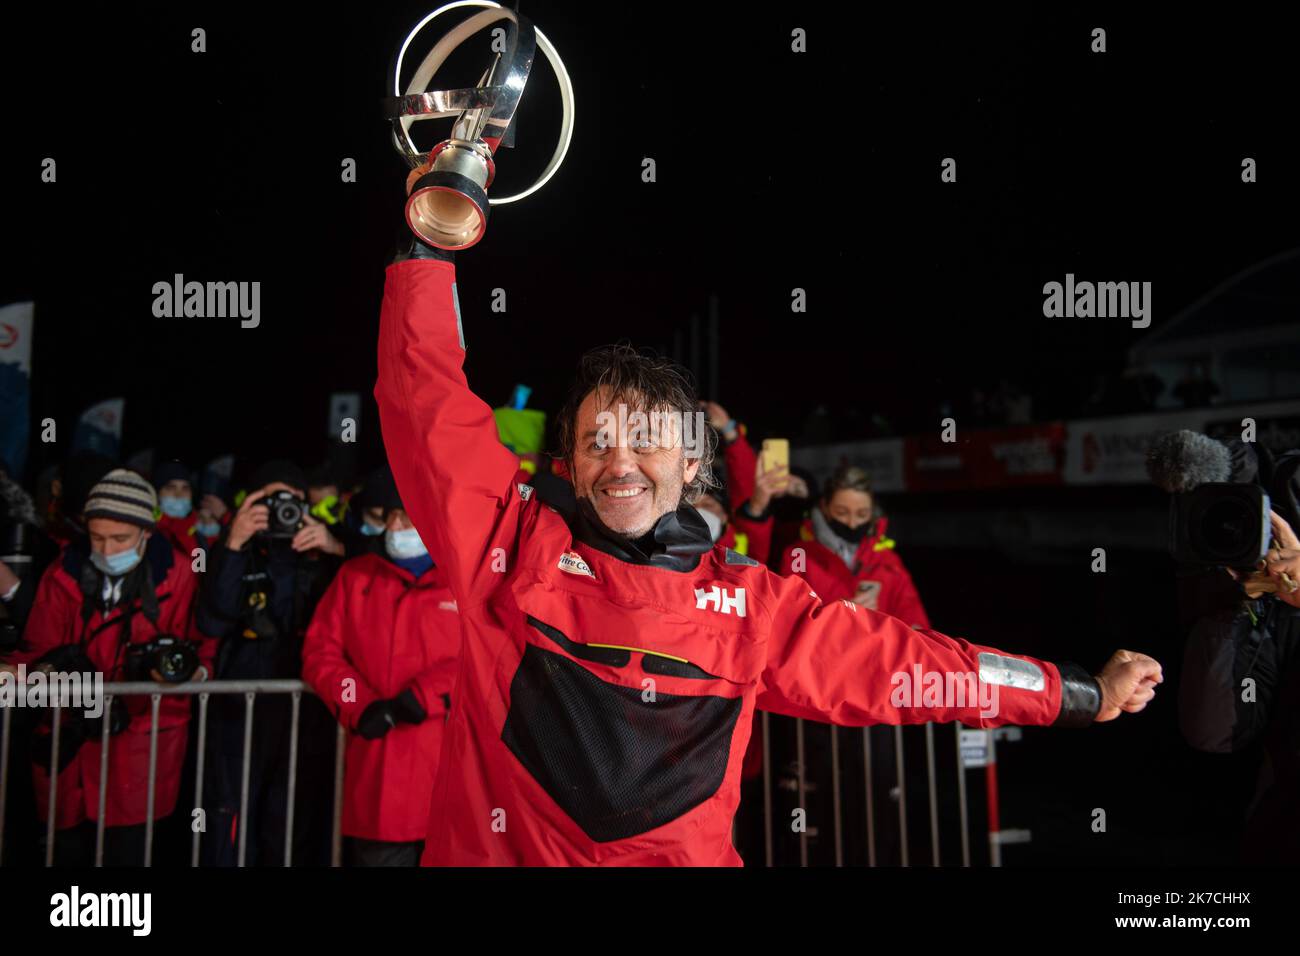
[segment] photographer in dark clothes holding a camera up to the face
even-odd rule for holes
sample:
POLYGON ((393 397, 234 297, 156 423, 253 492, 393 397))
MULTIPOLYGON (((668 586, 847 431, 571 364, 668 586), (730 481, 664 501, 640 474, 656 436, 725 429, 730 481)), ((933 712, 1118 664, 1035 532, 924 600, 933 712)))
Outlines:
MULTIPOLYGON (((199 626, 221 639, 217 676, 296 679, 312 611, 338 571, 343 545, 307 514, 307 479, 292 462, 273 460, 252 477, 212 549, 199 626)), ((239 826, 248 829, 248 865, 281 865, 289 800, 291 710, 287 695, 260 695, 254 706, 248 819, 239 821, 243 779, 244 701, 213 701, 213 774, 207 805, 208 852, 216 865, 238 861, 239 826)), ((334 722, 315 696, 304 695, 299 724, 294 810, 295 862, 329 862, 334 722)))

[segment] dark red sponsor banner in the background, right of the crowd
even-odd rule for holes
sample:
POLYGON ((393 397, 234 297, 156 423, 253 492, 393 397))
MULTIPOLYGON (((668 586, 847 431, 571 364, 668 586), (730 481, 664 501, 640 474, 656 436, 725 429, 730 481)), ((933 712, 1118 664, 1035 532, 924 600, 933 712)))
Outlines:
POLYGON ((939 436, 906 440, 909 492, 1060 484, 1065 458, 1065 425, 1017 425, 962 433, 945 442, 939 436))

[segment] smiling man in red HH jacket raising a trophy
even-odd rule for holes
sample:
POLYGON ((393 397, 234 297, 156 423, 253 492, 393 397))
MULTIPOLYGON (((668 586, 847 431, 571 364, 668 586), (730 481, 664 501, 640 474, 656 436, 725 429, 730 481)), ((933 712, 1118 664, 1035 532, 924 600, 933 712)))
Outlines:
POLYGON ((690 428, 685 378, 627 347, 580 363, 558 416, 575 498, 545 503, 515 483, 464 354, 451 256, 416 243, 387 269, 376 398, 463 628, 425 864, 740 865, 755 706, 850 726, 1082 726, 1141 710, 1162 679, 1123 650, 1093 678, 913 630, 714 548, 688 503, 711 432, 690 428), (677 424, 647 436, 629 407, 677 424), (900 697, 914 672, 979 692, 900 697))

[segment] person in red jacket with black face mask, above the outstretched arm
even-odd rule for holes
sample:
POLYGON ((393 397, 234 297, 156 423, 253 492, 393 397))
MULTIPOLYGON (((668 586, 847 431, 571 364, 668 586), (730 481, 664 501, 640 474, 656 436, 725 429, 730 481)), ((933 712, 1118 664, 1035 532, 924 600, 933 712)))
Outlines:
POLYGON ((846 598, 909 624, 930 627, 911 575, 885 535, 866 471, 836 470, 800 540, 781 555, 781 574, 797 574, 823 600, 846 598))

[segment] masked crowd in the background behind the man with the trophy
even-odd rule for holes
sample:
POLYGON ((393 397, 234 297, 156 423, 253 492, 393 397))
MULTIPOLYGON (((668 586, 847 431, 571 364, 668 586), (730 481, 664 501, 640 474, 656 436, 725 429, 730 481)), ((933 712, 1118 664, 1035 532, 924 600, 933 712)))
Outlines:
MULTIPOLYGON (((801 574, 828 598, 928 626, 863 470, 841 467, 818 493, 806 472, 764 467, 748 429, 720 405, 702 402, 701 411, 723 459, 720 480, 694 503, 714 544, 801 574)), ((528 453, 519 464, 520 483, 551 494, 568 486, 563 467, 546 455, 528 453)), ((208 483, 200 489, 199 476, 179 460, 140 475, 79 453, 32 496, 39 509, 4 481, 9 501, 23 502, 10 507, 9 527, 21 528, 29 557, 23 568, 0 563, 9 635, 0 669, 14 678, 20 667, 99 672, 109 682, 302 679, 315 691, 302 697, 296 719, 287 695, 256 697, 247 792, 244 696, 212 696, 204 792, 194 795, 203 810, 204 862, 237 864, 240 843, 248 865, 329 861, 335 722, 348 732, 347 861, 419 861, 454 706, 460 626, 446 575, 387 467, 355 481, 329 464, 304 471, 270 460, 248 473, 246 490, 230 494, 208 483), (177 656, 170 643, 192 653, 177 656), (161 657, 168 650, 173 657, 161 657), (172 666, 160 663, 168 659, 172 666)), ((195 709, 192 695, 161 698, 152 803, 148 697, 124 696, 100 718, 109 721, 105 795, 99 792, 101 723, 75 709, 61 711, 56 864, 94 858, 101 804, 105 862, 143 861, 148 808, 162 821, 178 812, 182 791, 190 796, 182 784, 200 756, 195 709)), ((52 731, 48 710, 14 710, 13 718, 16 753, 30 747, 30 766, 10 761, 9 792, 32 799, 9 801, 10 858, 25 842, 35 848, 44 839, 52 731)), ((744 771, 750 784, 760 754, 755 735, 744 771)))

